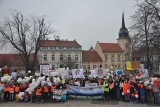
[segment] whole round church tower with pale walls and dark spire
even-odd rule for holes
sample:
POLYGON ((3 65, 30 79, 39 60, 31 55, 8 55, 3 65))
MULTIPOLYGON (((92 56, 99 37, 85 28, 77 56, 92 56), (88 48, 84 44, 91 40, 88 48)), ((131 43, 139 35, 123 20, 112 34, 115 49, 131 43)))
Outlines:
POLYGON ((119 30, 117 43, 124 52, 125 60, 129 60, 131 51, 131 38, 129 37, 128 29, 125 27, 124 12, 122 13, 122 27, 119 30))

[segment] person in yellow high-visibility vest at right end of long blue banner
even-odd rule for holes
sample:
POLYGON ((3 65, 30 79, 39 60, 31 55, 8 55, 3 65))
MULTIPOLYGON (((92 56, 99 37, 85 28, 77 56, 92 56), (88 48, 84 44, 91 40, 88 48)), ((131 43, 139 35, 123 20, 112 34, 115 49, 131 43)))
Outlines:
POLYGON ((108 80, 106 78, 104 78, 104 97, 105 100, 107 99, 107 101, 109 101, 109 83, 108 80))

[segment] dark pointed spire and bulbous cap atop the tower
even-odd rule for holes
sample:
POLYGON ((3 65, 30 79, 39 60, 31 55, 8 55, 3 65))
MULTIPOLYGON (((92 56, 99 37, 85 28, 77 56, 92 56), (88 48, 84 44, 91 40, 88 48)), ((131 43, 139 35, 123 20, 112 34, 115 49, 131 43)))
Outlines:
POLYGON ((129 33, 128 29, 125 27, 125 21, 124 21, 124 12, 122 13, 122 27, 119 30, 119 38, 128 38, 129 33))

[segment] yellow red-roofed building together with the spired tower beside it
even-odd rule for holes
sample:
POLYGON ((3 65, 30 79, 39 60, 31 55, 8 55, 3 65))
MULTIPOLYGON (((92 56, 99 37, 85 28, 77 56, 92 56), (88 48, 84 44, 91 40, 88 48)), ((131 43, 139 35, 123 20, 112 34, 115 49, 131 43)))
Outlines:
POLYGON ((125 62, 131 58, 131 38, 125 27, 124 13, 122 14, 122 27, 119 30, 117 43, 100 43, 97 41, 95 50, 103 60, 103 68, 114 70, 125 68, 125 62))

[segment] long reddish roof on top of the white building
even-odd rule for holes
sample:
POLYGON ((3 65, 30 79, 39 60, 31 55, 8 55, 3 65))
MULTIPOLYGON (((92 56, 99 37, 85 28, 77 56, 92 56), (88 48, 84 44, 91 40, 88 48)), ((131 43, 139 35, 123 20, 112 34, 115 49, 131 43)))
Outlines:
POLYGON ((44 42, 43 46, 70 46, 70 47, 81 47, 80 44, 77 43, 77 41, 57 41, 57 40, 43 40, 44 42))

